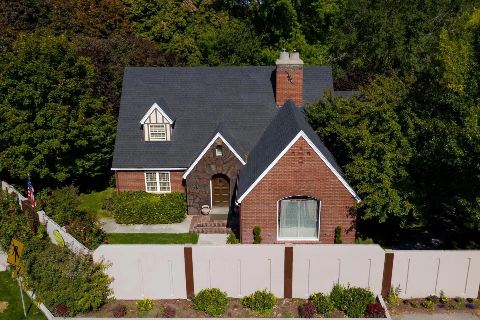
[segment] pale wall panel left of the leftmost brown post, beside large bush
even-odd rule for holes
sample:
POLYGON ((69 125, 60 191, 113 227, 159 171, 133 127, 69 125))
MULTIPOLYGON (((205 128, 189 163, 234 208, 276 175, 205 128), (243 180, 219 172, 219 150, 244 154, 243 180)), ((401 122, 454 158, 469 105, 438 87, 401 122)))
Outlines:
POLYGON ((93 258, 112 262, 107 273, 117 299, 186 299, 183 246, 102 245, 93 258))

